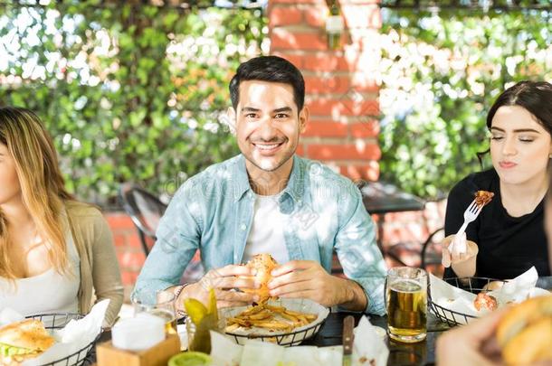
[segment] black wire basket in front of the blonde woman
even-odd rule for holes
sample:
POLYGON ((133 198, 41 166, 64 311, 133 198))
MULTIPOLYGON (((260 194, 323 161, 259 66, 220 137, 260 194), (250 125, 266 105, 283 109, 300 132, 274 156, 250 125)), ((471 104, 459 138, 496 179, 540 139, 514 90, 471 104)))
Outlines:
MULTIPOLYGON (((82 319, 84 316, 74 313, 56 313, 56 314, 36 314, 27 316, 27 319, 38 319, 44 324, 44 328, 47 330, 62 329, 71 320, 82 319)), ((84 364, 90 364, 89 359, 90 352, 93 350, 94 345, 100 339, 100 334, 91 343, 82 347, 79 351, 73 352, 70 355, 63 357, 62 359, 44 363, 41 366, 81 366, 84 364)))

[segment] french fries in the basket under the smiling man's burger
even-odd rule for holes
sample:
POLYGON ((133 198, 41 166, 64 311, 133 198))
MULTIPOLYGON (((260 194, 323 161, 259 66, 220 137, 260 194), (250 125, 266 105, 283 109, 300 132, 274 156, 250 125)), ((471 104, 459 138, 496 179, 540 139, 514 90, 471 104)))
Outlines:
POLYGON ((242 313, 226 319, 226 332, 240 327, 250 329, 253 326, 270 331, 291 331, 316 320, 316 314, 303 314, 286 309, 284 306, 269 305, 266 302, 253 305, 242 313))

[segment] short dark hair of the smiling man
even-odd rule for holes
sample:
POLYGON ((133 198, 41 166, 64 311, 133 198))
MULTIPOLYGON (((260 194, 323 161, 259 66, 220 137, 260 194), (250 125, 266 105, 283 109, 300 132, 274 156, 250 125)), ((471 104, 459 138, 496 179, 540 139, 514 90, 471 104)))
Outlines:
POLYGON ((298 111, 305 103, 305 80, 290 61, 278 56, 260 56, 243 62, 230 80, 230 99, 233 108, 240 101, 240 83, 245 80, 281 82, 293 87, 293 99, 298 111))

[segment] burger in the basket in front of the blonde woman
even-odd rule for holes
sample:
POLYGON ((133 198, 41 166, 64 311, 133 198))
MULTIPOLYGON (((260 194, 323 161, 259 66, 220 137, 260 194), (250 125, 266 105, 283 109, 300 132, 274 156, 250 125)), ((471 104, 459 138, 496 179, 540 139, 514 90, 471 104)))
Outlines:
POLYGON ((0 328, 0 365, 19 365, 52 347, 54 340, 43 322, 26 319, 0 328))

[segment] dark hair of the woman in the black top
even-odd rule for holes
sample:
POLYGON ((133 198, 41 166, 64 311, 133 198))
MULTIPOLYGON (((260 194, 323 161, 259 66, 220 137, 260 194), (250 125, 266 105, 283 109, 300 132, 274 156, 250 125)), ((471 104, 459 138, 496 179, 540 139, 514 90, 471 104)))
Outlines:
MULTIPOLYGON (((519 81, 513 87, 504 90, 487 115, 487 128, 492 125, 492 118, 500 107, 519 106, 525 108, 537 122, 552 136, 552 84, 547 81, 519 81)), ((482 166, 483 155, 489 150, 478 153, 482 166)))

